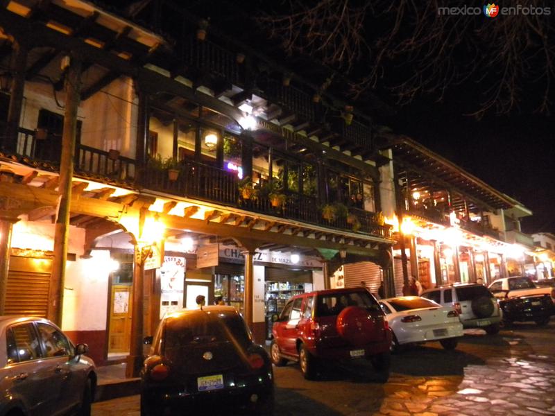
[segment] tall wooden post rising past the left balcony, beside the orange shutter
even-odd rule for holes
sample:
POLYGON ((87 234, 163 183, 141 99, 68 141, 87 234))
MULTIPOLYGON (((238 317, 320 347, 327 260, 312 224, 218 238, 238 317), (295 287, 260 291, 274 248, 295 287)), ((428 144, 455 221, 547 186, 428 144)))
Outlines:
POLYGON ((60 161, 60 185, 58 212, 54 234, 54 259, 50 280, 49 311, 51 320, 62 327, 64 306, 65 263, 69 234, 69 209, 71 207, 71 179, 74 175, 74 155, 77 128, 77 110, 80 101, 81 61, 76 54, 71 55, 65 80, 65 114, 62 132, 62 157, 60 161))

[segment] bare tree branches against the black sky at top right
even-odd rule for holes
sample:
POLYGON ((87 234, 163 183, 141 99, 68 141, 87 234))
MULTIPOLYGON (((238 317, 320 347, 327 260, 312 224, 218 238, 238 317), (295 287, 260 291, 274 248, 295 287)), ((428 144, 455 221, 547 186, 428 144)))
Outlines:
MULTIPOLYGON (((354 98, 379 89, 401 105, 421 95, 441 101, 463 85, 479 97, 474 116, 509 113, 523 103, 549 114, 555 7, 539 14, 520 6, 492 18, 440 12, 466 6, 459 0, 293 1, 286 15, 257 21, 287 53, 311 55, 350 75, 354 98)), ((525 6, 546 10, 540 0, 525 6)))

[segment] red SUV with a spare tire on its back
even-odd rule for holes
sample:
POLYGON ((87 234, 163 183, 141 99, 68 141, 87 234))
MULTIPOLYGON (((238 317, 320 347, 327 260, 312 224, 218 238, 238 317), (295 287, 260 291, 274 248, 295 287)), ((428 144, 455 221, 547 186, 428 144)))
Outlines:
POLYGON ((299 361, 305 379, 314 379, 321 361, 368 358, 380 379, 387 381, 391 329, 365 288, 303 293, 272 318, 275 365, 299 361))

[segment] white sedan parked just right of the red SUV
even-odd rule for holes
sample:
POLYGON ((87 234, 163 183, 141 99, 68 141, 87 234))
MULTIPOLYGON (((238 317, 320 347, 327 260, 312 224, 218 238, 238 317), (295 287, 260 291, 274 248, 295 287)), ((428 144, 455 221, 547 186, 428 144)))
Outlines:
POLYGON ((393 349, 400 345, 439 341, 454 349, 463 336, 459 313, 452 306, 441 306, 418 296, 389 297, 379 301, 393 330, 393 349))

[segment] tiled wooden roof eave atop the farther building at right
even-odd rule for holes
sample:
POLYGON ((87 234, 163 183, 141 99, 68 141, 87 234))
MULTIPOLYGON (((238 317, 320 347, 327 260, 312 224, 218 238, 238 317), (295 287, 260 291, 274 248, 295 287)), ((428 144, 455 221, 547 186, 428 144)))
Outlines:
POLYGON ((437 190, 438 187, 456 191, 452 206, 463 209, 466 203, 469 210, 522 207, 504 193, 495 190, 486 182, 464 171, 461 167, 425 148, 409 137, 397 137, 388 146, 393 150, 393 163, 398 173, 403 172, 409 181, 409 189, 422 191, 437 190))

